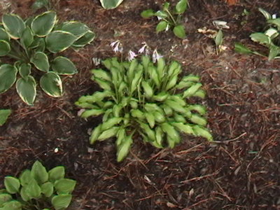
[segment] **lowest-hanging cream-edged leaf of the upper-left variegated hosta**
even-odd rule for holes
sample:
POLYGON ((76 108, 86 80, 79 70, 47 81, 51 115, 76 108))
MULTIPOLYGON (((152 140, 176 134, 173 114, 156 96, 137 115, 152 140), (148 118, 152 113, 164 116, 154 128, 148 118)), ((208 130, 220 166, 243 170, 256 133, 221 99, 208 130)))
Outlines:
POLYGON ((33 105, 36 97, 36 82, 33 76, 19 78, 16 83, 17 92, 23 102, 33 105))

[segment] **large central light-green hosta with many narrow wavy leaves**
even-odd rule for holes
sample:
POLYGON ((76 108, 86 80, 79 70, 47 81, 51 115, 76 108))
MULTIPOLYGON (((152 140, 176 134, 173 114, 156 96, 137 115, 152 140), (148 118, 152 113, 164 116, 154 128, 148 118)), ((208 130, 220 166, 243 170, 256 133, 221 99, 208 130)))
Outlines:
POLYGON ((206 108, 189 104, 190 97, 204 98, 199 77, 183 76, 181 65, 155 65, 149 57, 131 62, 116 58, 103 61, 106 70, 93 69, 92 80, 102 91, 80 97, 82 118, 103 115, 102 123, 92 130, 90 144, 116 137, 117 160, 122 161, 134 139, 140 137, 157 148, 174 148, 181 141, 179 132, 212 140, 204 118, 206 108))

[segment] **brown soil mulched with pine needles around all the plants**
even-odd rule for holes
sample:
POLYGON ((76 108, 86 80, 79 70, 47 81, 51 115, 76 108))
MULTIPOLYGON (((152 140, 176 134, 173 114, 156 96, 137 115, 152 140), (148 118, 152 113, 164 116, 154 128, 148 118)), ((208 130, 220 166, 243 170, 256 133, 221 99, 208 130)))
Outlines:
MULTIPOLYGON (((5 0, 1 14, 26 18, 34 14, 32 2, 5 0), (5 3, 10 6, 5 8, 5 3)), ((158 10, 162 2, 125 0, 114 10, 104 10, 97 0, 52 0, 59 20, 85 22, 97 38, 78 52, 65 52, 79 73, 63 78, 63 97, 51 98, 40 90, 34 106, 27 106, 15 87, 0 95, 0 107, 13 109, 0 127, 0 187, 4 176, 18 176, 40 160, 48 169, 64 165, 67 176, 78 182, 69 209, 280 209, 280 62, 233 50, 237 41, 265 50, 249 35, 265 27, 258 8, 279 16, 280 1, 230 5, 189 0, 183 41, 172 31, 155 34, 158 20, 141 18, 142 10, 158 10), (241 15, 245 8, 250 15, 241 15), (214 20, 230 26, 223 30, 227 49, 220 55, 213 39, 197 33, 202 27, 216 29, 214 20), (116 40, 123 43, 123 55, 110 47, 116 40), (184 73, 201 76, 207 99, 200 102, 207 106, 215 141, 183 137, 176 148, 159 150, 136 140, 128 158, 118 163, 114 139, 88 143, 88 130, 100 119, 79 118, 74 102, 99 88, 90 80, 89 70, 96 67, 92 57, 126 57, 143 42, 166 59, 181 62, 184 73)))

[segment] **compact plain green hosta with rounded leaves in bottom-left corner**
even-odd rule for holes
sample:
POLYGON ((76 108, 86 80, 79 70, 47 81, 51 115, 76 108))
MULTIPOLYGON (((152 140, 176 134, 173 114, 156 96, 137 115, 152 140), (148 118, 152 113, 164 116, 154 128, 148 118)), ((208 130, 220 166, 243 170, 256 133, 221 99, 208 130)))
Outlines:
POLYGON ((36 161, 19 178, 6 176, 0 190, 0 210, 62 210, 72 199, 76 181, 64 178, 64 167, 47 171, 36 161))

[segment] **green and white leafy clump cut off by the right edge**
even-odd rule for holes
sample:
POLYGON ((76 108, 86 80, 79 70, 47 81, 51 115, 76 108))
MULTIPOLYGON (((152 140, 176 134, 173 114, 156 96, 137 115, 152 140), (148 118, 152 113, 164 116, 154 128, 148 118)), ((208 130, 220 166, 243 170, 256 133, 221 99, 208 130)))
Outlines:
POLYGON ((262 55, 260 52, 251 50, 241 43, 235 43, 235 51, 243 54, 255 54, 268 57, 268 60, 280 58, 280 18, 274 18, 266 10, 259 8, 260 13, 267 20, 268 29, 265 32, 257 32, 250 35, 251 40, 268 48, 268 55, 262 55))

